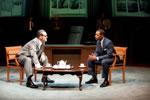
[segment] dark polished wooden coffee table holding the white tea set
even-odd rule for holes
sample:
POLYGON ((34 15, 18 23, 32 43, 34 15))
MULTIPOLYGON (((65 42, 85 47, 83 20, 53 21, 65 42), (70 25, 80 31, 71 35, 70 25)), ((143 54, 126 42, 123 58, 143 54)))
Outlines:
MULTIPOLYGON (((37 75, 37 72, 46 72, 48 74, 60 74, 60 75, 64 75, 64 74, 71 74, 71 75, 77 75, 79 78, 79 90, 82 91, 82 76, 84 73, 88 72, 89 68, 88 67, 73 67, 71 69, 53 69, 52 67, 42 67, 42 68, 35 68, 34 72, 35 75, 37 75)), ((35 76, 35 81, 36 81, 36 77, 35 76)), ((44 77, 44 81, 43 81, 43 90, 46 89, 47 86, 47 82, 46 82, 46 75, 43 75, 44 77)))

